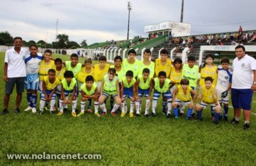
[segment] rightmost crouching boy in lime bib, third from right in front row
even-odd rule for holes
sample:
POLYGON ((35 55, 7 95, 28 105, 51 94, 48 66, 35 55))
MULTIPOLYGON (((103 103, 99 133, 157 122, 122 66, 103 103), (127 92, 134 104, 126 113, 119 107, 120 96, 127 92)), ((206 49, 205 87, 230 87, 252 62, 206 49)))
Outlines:
MULTIPOLYGON (((153 102, 152 102, 152 116, 156 116, 156 104, 160 95, 167 99, 167 113, 170 113, 172 107, 172 93, 170 88, 172 87, 171 80, 166 77, 165 71, 160 71, 158 77, 152 81, 152 87, 154 86, 153 102)), ((148 114, 145 114, 149 117, 148 114)))

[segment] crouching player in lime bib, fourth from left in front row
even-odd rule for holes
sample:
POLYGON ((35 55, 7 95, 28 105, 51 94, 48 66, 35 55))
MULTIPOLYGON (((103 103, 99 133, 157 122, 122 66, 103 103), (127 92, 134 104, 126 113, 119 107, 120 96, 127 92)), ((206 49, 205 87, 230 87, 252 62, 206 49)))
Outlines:
POLYGON ((100 108, 102 109, 103 113, 101 116, 105 116, 107 114, 107 109, 105 107, 104 101, 109 98, 109 95, 113 95, 113 99, 115 100, 116 104, 113 106, 111 113, 113 116, 116 116, 116 110, 120 107, 120 90, 119 90, 119 81, 118 77, 116 76, 116 69, 109 68, 108 75, 104 75, 102 84, 100 86, 100 98, 99 104, 100 108))

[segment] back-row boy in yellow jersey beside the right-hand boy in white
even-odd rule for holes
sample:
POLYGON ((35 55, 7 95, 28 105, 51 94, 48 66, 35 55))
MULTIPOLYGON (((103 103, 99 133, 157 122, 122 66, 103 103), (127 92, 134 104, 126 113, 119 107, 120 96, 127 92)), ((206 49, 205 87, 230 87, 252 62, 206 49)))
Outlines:
POLYGON ((212 84, 216 86, 217 84, 217 77, 218 77, 218 67, 213 64, 214 56, 213 55, 206 55, 205 57, 205 64, 201 65, 199 68, 201 73, 200 78, 200 86, 203 86, 205 83, 205 77, 212 77, 212 84))

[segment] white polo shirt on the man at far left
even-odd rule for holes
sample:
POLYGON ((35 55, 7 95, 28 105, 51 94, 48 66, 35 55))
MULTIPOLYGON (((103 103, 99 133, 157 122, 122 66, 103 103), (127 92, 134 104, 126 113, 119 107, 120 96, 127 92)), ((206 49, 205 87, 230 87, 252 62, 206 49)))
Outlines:
POLYGON ((26 65, 24 59, 28 53, 29 51, 25 48, 21 48, 19 53, 15 51, 15 48, 6 50, 4 62, 8 63, 8 77, 26 77, 26 65))

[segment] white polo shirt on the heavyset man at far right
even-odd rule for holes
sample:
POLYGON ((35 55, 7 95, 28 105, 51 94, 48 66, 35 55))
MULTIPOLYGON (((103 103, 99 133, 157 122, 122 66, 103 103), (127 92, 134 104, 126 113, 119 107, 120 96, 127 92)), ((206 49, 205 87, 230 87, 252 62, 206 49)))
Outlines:
POLYGON ((250 89, 253 84, 253 70, 256 70, 256 60, 249 55, 241 59, 237 57, 232 63, 232 89, 250 89))

